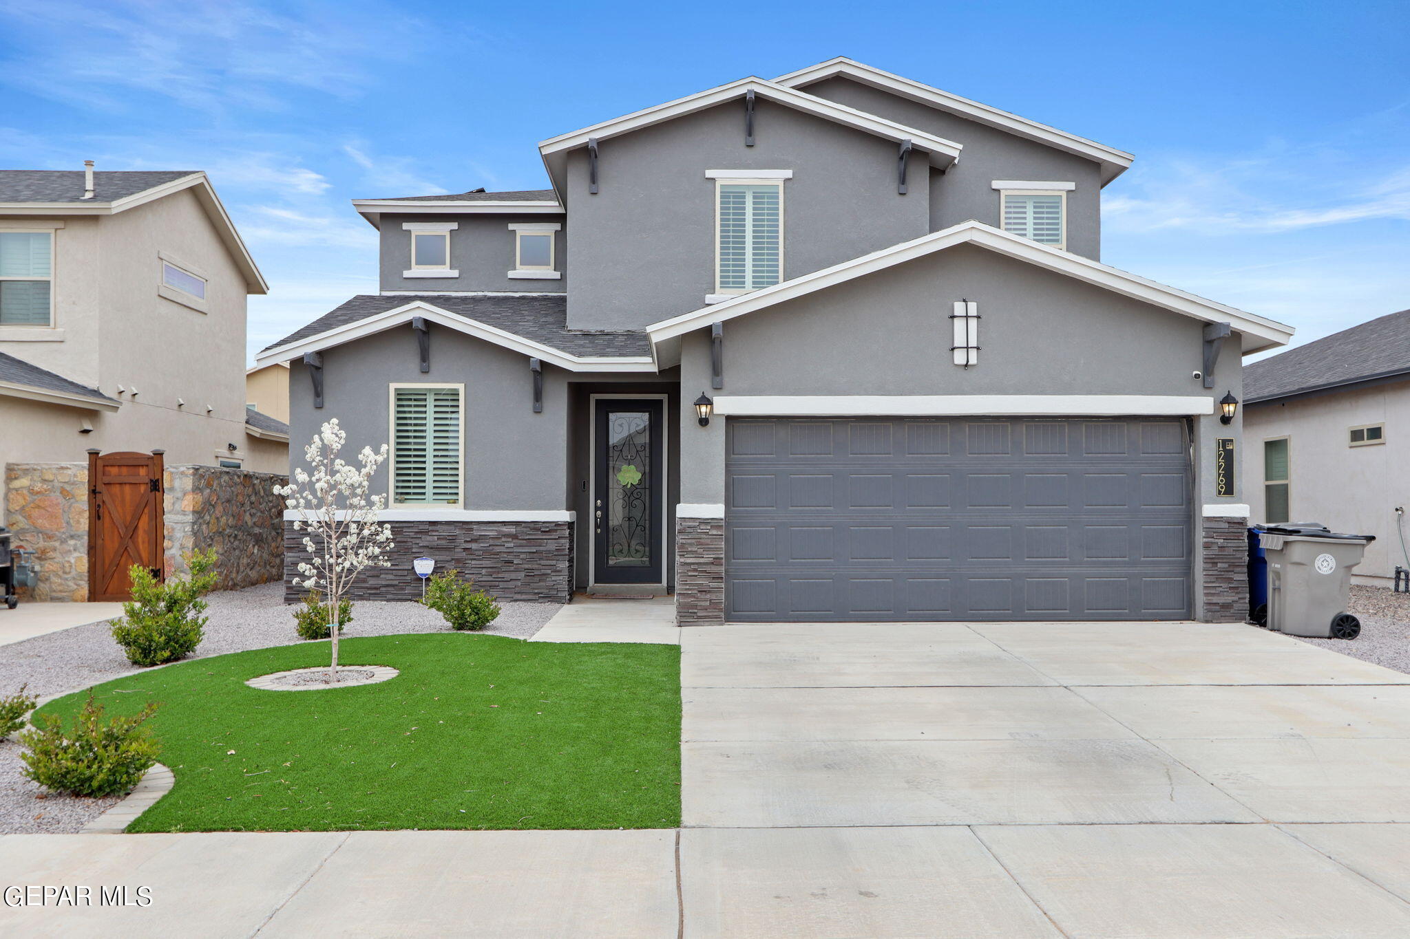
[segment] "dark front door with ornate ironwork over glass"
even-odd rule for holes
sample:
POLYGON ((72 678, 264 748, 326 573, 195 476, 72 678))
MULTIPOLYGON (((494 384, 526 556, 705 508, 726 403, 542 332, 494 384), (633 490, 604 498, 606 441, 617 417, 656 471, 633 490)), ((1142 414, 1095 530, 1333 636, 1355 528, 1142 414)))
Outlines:
POLYGON ((598 398, 594 411, 592 581, 664 583, 664 404, 598 398))

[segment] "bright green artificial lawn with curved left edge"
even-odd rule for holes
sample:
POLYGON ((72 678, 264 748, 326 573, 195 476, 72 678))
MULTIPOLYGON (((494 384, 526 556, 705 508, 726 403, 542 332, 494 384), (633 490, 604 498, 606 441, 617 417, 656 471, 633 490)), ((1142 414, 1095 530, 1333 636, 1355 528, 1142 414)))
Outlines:
MULTIPOLYGON (((199 659, 97 686, 147 726, 176 786, 128 831, 674 828, 680 648, 429 634, 343 639, 381 684, 264 691, 329 643, 199 659)), ((70 719, 86 693, 41 712, 70 719)))

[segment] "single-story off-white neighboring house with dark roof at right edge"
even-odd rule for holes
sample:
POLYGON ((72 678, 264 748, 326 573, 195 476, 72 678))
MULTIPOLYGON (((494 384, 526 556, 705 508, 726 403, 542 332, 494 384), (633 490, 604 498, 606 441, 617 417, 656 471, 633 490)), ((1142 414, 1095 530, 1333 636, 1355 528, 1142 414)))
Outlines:
POLYGON ((1375 535, 1354 579, 1389 586, 1410 567, 1410 310, 1245 366, 1244 394, 1253 521, 1375 535))

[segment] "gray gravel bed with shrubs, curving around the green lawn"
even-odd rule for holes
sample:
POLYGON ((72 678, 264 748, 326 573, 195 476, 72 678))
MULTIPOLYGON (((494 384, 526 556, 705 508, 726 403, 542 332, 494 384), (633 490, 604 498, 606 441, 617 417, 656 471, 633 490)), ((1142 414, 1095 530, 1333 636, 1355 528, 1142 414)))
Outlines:
MULTIPOLYGON (((299 642, 292 605, 283 603, 283 584, 226 590, 207 597, 206 638, 193 659, 245 652, 299 642)), ((484 632, 527 639, 558 612, 554 603, 503 603, 499 617, 484 632)), ((417 603, 357 601, 352 624, 344 636, 385 636, 400 632, 447 632, 434 610, 417 603)), ((110 626, 96 622, 61 629, 24 642, 0 646, 0 694, 13 694, 28 683, 30 694, 51 698, 90 684, 138 672, 113 642, 110 626)), ((0 739, 0 835, 70 833, 82 829, 121 801, 44 795, 21 774, 20 745, 0 739)))

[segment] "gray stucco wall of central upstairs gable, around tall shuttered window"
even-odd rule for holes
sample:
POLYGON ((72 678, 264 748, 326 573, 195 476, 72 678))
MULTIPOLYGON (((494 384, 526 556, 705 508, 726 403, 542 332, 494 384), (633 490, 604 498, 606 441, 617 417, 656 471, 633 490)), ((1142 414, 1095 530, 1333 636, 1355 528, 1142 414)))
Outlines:
POLYGON ((760 100, 756 145, 744 104, 602 141, 599 193, 585 151, 570 153, 567 194, 574 287, 568 325, 639 328, 698 310, 715 293, 715 180, 708 169, 787 169, 784 279, 877 251, 929 228, 929 175, 916 156, 897 194, 897 148, 870 134, 760 100))

